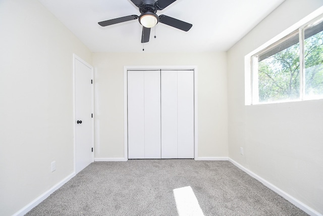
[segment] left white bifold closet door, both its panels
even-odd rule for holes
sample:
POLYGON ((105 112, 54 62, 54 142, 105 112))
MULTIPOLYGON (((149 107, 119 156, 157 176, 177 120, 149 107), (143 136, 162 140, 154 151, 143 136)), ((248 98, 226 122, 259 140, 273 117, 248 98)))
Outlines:
POLYGON ((160 158, 160 71, 128 71, 128 158, 160 158))

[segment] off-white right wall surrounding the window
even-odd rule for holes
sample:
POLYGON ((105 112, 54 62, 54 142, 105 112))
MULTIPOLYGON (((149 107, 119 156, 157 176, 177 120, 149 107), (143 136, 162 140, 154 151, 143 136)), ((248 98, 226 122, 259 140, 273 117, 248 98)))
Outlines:
POLYGON ((245 106, 244 56, 322 5, 286 0, 228 51, 229 157, 320 213, 323 100, 245 106))

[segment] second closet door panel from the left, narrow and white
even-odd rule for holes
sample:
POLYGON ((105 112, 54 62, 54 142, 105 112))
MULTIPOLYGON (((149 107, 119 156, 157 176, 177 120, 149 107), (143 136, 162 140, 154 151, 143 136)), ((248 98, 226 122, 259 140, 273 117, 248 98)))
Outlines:
POLYGON ((160 71, 144 72, 145 158, 160 158, 160 71))

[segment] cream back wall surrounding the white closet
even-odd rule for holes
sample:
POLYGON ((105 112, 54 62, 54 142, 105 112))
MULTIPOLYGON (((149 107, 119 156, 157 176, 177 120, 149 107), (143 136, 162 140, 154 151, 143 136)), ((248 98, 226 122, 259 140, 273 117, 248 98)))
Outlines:
POLYGON ((198 157, 228 156, 226 53, 94 53, 95 158, 124 157, 124 66, 197 65, 198 157))

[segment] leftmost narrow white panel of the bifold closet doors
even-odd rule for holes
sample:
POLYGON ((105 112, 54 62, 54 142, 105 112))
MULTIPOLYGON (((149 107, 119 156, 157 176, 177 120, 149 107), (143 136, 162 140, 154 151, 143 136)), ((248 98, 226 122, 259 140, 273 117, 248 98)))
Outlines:
POLYGON ((128 158, 145 158, 144 72, 128 72, 128 158))

